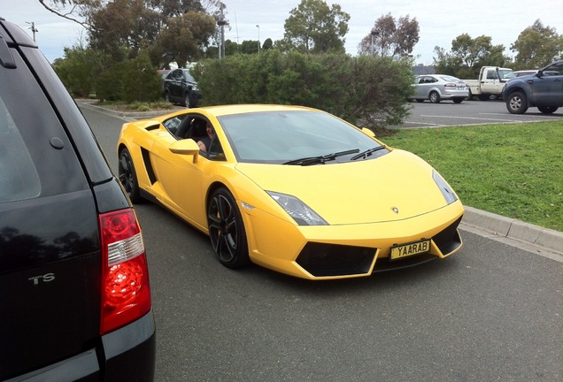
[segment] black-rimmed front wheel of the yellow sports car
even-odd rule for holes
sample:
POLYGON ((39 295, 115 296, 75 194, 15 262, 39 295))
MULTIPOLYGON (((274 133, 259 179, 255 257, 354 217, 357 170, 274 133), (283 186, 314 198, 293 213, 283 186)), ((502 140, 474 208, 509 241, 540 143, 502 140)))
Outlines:
POLYGON ((221 264, 237 269, 251 263, 243 216, 227 188, 220 187, 213 192, 207 207, 207 225, 213 250, 221 264))

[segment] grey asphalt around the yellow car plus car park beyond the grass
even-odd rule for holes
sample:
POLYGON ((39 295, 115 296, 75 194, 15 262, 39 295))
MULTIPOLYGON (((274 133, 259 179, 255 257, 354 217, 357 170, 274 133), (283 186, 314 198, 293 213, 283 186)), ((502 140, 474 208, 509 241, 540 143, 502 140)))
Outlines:
MULTIPOLYGON (((511 118, 502 103, 498 115, 479 104, 455 107, 467 118, 511 118)), ((415 106, 420 118, 454 107, 415 106)), ((83 112, 116 169, 123 120, 83 112)), ((135 210, 150 263, 157 381, 561 380, 561 264, 533 249, 463 230, 464 248, 444 261, 312 282, 228 270, 194 228, 154 204, 135 210)))

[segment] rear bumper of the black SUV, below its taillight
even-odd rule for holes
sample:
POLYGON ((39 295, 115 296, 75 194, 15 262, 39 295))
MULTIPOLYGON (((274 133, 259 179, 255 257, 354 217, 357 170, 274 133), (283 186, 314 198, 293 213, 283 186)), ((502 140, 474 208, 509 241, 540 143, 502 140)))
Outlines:
POLYGON ((152 381, 156 329, 152 310, 135 322, 102 337, 92 348, 59 363, 5 382, 152 381))

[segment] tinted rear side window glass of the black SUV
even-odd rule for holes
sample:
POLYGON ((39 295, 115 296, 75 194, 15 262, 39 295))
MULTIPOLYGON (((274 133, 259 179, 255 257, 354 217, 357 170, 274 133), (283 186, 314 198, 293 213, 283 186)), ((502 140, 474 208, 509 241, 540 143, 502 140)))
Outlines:
POLYGON ((0 203, 89 188, 81 163, 35 76, 17 50, 0 65, 0 203))

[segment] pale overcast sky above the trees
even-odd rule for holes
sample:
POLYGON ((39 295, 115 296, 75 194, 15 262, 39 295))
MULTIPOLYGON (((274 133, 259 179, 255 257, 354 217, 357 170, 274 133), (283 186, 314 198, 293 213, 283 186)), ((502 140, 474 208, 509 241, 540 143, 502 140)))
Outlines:
MULTIPOLYGON (((266 38, 273 41, 283 37, 283 25, 289 11, 301 0, 223 0, 227 5, 230 29, 225 38, 234 42, 266 38), (259 27, 257 27, 257 25, 259 27)), ((349 31, 345 36, 346 51, 358 54, 358 44, 370 33, 376 19, 389 12, 395 19, 409 16, 420 27, 420 41, 413 56, 419 64, 430 65, 434 47, 451 50, 451 41, 459 34, 472 38, 487 35, 495 45, 505 45, 505 54, 513 56, 510 45, 518 35, 540 19, 544 27, 555 27, 563 34, 563 2, 561 0, 340 0, 350 14, 349 31)), ((43 54, 52 62, 63 57, 63 49, 83 40, 81 27, 45 10, 38 0, 0 0, 0 17, 8 19, 32 35, 30 23, 38 32, 35 40, 43 54)), ((546 63, 546 65, 549 63, 546 63)))

